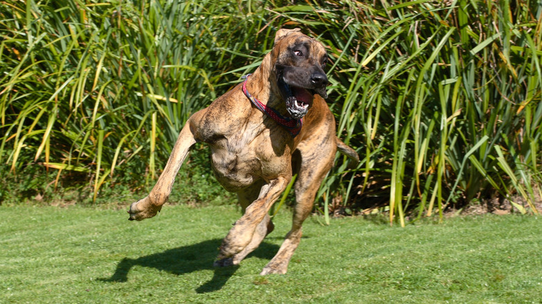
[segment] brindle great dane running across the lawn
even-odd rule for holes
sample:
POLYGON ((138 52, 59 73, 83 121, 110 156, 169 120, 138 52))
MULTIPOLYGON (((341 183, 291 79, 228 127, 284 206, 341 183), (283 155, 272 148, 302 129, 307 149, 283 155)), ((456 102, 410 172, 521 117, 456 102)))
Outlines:
POLYGON ((239 264, 258 247, 274 228, 271 205, 297 174, 292 228, 261 271, 286 273, 337 149, 352 160, 351 166, 359 162, 356 151, 335 135, 335 119, 324 100, 326 62, 320 42, 298 28, 279 30, 272 51, 245 83, 188 119, 149 196, 131 204, 130 220, 154 217, 161 210, 190 147, 205 142, 217 180, 237 193, 243 209, 222 241, 215 266, 239 264))

